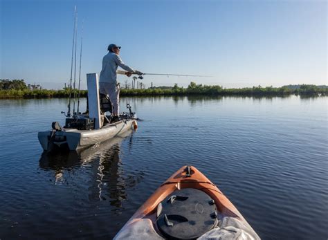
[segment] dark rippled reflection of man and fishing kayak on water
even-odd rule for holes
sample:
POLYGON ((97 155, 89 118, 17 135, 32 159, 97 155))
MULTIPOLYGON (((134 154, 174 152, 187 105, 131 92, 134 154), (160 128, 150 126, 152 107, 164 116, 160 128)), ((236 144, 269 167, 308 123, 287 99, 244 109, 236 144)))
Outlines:
POLYGON ((87 194, 88 199, 85 200, 89 203, 109 201, 112 206, 120 208, 122 201, 127 198, 126 188, 133 187, 140 181, 140 173, 134 174, 135 179, 132 181, 124 177, 120 145, 126 138, 129 138, 129 151, 132 145, 132 131, 82 151, 55 155, 43 153, 39 167, 54 172, 55 185, 70 185, 71 190, 73 185, 79 199, 87 194))

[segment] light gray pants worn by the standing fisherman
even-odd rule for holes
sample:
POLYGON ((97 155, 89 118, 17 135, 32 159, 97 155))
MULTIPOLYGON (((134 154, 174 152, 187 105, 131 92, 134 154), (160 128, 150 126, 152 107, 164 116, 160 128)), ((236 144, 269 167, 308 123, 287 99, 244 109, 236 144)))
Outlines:
POLYGON ((120 113, 120 85, 100 82, 99 91, 109 97, 111 106, 113 107, 113 115, 118 116, 120 113))

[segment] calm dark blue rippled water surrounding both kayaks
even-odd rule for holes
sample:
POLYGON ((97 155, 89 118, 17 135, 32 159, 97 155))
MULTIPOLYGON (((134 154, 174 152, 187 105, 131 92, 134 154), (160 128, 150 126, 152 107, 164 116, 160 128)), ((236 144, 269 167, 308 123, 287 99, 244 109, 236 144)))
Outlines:
POLYGON ((66 100, 0 100, 1 240, 110 239, 186 164, 262 239, 327 239, 328 98, 129 102, 144 119, 138 131, 47 156, 37 131, 64 122, 66 100))

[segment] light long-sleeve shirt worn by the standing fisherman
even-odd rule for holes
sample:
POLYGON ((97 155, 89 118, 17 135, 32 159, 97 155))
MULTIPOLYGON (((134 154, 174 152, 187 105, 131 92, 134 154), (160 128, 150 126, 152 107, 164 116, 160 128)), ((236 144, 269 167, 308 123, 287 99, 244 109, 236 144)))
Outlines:
POLYGON ((125 65, 119 55, 109 52, 107 55, 104 55, 104 58, 102 59, 102 70, 100 72, 99 82, 117 84, 118 66, 123 68, 125 71, 134 73, 134 69, 125 65))

